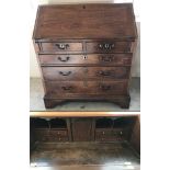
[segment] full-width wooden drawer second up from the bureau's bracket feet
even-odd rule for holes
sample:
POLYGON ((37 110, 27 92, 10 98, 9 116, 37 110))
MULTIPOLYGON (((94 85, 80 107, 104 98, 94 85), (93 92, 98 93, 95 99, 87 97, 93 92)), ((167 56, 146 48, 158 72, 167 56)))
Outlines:
POLYGON ((42 67, 45 80, 128 79, 129 67, 42 67))

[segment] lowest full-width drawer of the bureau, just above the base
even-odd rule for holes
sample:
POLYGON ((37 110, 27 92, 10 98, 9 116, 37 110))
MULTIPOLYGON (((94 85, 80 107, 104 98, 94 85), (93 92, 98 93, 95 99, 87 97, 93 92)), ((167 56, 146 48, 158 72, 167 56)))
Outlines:
POLYGON ((118 95, 127 94, 128 82, 122 81, 48 81, 45 82, 46 92, 50 97, 73 97, 77 94, 102 94, 102 95, 118 95))

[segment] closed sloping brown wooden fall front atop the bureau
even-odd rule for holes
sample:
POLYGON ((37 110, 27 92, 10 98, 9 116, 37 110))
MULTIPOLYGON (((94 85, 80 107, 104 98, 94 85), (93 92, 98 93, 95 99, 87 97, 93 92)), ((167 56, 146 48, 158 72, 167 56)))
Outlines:
POLYGON ((34 39, 137 36, 132 3, 39 5, 34 39))

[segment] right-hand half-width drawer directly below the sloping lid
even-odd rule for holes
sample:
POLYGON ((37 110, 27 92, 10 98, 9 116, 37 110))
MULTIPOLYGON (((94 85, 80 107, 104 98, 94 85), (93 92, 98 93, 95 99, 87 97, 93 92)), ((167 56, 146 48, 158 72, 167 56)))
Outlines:
POLYGON ((89 53, 129 53, 132 42, 89 42, 87 50, 89 53))

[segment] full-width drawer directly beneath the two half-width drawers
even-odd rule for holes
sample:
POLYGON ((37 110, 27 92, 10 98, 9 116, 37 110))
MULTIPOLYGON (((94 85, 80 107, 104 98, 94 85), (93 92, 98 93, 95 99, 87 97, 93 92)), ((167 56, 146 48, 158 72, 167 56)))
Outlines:
POLYGON ((41 65, 131 66, 132 54, 39 55, 41 65))

